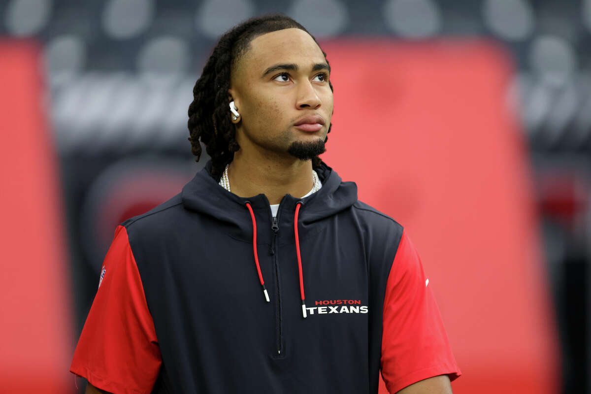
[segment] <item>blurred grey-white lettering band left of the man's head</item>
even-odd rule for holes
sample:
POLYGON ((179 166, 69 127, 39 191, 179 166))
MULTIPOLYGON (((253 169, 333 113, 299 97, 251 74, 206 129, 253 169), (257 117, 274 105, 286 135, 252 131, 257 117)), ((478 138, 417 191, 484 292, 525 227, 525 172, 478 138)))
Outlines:
POLYGON ((94 156, 185 143, 195 80, 186 74, 122 72, 61 80, 51 90, 58 150, 94 156))

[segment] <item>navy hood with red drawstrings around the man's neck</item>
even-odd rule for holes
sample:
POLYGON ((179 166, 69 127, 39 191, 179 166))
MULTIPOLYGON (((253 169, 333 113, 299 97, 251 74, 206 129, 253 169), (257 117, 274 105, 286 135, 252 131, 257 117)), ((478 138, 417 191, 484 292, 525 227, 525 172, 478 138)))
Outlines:
POLYGON ((211 168, 212 161, 209 160, 205 167, 183 187, 181 198, 184 208, 213 217, 220 226, 226 227, 228 235, 235 239, 252 242, 256 271, 267 302, 269 302, 269 296, 258 262, 257 246, 260 248, 268 240, 276 239, 278 232, 293 237, 300 272, 302 314, 305 318, 306 301, 300 256, 300 235, 304 234, 312 223, 349 209, 355 204, 357 185, 354 182, 343 182, 336 171, 322 163, 320 168, 314 169, 322 183, 322 188, 306 198, 285 194, 275 220, 271 216, 271 207, 264 194, 246 198, 238 197, 219 185, 219 180, 210 174, 211 168), (286 216, 288 219, 285 219, 286 216))

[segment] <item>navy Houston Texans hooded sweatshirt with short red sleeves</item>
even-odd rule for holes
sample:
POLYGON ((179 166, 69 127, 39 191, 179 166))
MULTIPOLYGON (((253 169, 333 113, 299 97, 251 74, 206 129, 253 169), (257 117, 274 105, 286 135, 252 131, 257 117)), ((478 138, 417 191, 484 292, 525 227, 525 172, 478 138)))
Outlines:
POLYGON ((238 197, 210 175, 121 223, 70 371, 112 393, 391 393, 461 375, 407 232, 322 164, 238 197))

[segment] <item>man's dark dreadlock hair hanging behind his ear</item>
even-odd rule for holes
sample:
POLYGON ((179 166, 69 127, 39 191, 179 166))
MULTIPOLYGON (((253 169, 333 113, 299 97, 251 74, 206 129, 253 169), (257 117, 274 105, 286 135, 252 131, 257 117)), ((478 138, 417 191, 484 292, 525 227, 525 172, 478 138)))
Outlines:
MULTIPOLYGON (((191 152, 199 161, 202 148, 199 140, 206 146, 207 154, 212 158, 211 174, 216 179, 222 175, 226 164, 234 158, 234 152, 240 149, 236 142, 236 129, 230 121, 228 89, 230 88, 230 71, 239 58, 246 53, 249 44, 259 35, 287 28, 298 28, 308 34, 298 22, 282 14, 270 14, 248 19, 233 27, 220 37, 207 63, 203 67, 201 77, 193 87, 193 102, 189 106, 189 141, 191 152)), ((310 34, 314 41, 313 35, 310 34)), ((318 41, 316 41, 318 44, 318 41)), ((320 47, 320 45, 319 45, 320 47)), ((321 49, 322 51, 322 49, 321 49)), ((326 59, 326 53, 322 51, 326 59)), ((328 60, 326 61, 328 63, 328 60)), ((329 81, 330 90, 333 90, 329 81)), ((329 126, 328 132, 332 128, 329 126)), ((324 139, 324 142, 328 137, 324 139)), ((322 164, 320 157, 312 159, 312 167, 322 164)))

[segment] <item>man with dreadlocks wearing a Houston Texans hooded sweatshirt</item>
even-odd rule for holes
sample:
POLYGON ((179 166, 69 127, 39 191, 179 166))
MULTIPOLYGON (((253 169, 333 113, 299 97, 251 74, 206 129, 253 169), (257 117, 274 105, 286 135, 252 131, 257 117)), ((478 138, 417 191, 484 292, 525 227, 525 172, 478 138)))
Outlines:
POLYGON ((212 159, 117 228, 70 369, 87 392, 374 394, 380 370, 391 393, 452 392, 407 233, 318 157, 329 79, 293 19, 220 38, 188 122, 212 159))

